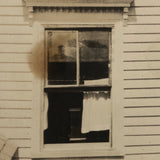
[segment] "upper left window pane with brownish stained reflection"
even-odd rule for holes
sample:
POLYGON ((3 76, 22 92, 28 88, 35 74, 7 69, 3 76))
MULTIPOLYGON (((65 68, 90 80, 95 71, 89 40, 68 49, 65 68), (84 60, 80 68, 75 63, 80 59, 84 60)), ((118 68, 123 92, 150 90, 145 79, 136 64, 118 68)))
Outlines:
POLYGON ((48 32, 48 84, 76 83, 76 32, 48 32))

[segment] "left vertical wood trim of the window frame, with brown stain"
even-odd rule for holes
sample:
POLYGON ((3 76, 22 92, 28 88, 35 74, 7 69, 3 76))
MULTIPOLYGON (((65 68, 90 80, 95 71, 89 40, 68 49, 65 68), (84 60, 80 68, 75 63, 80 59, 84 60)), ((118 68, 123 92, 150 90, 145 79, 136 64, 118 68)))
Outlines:
POLYGON ((44 76, 44 28, 37 22, 33 24, 33 58, 36 58, 36 63, 40 64, 36 68, 39 76, 33 74, 32 153, 35 154, 42 150, 43 124, 41 122, 43 122, 43 117, 41 115, 44 104, 44 80, 42 78, 44 76))

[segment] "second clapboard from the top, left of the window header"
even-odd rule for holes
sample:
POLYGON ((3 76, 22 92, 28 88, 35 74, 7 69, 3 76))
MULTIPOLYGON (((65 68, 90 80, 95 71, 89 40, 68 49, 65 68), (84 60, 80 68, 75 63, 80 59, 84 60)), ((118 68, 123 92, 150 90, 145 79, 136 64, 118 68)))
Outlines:
POLYGON ((25 7, 15 6, 15 7, 1 7, 0 6, 0 16, 22 16, 24 15, 25 7))

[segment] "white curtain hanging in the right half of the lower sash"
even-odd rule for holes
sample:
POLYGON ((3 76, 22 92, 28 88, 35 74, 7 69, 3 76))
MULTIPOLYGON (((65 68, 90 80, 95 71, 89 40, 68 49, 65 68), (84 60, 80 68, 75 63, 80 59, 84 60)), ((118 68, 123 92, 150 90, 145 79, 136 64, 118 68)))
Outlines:
POLYGON ((111 128, 111 100, 108 92, 84 92, 82 133, 111 128))

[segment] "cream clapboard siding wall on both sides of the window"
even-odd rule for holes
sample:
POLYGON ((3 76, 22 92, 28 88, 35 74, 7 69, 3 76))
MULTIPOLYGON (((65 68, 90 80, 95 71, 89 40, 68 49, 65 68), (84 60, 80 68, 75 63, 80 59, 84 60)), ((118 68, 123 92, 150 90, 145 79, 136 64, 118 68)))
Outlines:
MULTIPOLYGON (((126 160, 160 159, 160 1, 134 0, 124 31, 126 160)), ((30 160, 32 28, 22 0, 0 0, 0 134, 30 160)))

